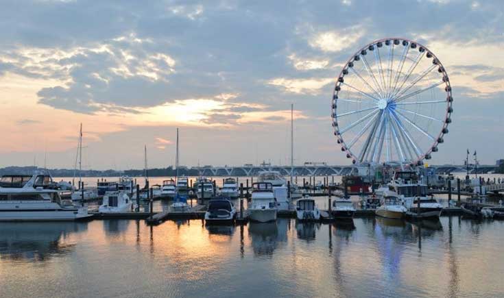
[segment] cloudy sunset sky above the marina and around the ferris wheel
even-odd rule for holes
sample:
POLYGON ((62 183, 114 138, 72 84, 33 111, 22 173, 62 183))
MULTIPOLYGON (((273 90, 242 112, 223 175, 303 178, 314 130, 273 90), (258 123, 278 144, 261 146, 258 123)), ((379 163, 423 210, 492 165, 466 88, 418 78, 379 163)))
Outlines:
POLYGON ((335 79, 364 45, 425 45, 451 78, 453 123, 430 164, 504 158, 504 3, 2 1, 0 166, 84 169, 350 164, 335 79))

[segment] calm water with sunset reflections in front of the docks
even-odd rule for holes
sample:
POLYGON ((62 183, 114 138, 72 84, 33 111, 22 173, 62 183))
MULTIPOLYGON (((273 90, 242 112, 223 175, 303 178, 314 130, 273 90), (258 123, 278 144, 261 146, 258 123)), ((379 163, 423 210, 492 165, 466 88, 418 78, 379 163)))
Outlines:
POLYGON ((1 297, 504 297, 504 222, 0 223, 1 297))

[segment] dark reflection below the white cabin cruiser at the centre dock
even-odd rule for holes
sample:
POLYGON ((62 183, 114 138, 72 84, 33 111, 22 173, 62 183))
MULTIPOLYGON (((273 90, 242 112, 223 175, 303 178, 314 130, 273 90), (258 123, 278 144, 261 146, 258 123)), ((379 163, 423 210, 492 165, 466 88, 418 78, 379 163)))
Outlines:
POLYGON ((287 243, 290 219, 278 219, 269 223, 251 222, 248 234, 252 238, 252 249, 256 256, 271 256, 280 243, 287 243))

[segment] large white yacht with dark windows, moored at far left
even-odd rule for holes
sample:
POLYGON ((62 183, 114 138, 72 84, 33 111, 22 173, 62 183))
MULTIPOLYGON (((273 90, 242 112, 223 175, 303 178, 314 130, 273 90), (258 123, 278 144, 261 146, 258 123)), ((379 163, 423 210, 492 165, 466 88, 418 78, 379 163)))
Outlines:
POLYGON ((0 221, 75 221, 91 216, 87 207, 62 200, 58 190, 34 188, 39 176, 22 187, 0 187, 0 221))

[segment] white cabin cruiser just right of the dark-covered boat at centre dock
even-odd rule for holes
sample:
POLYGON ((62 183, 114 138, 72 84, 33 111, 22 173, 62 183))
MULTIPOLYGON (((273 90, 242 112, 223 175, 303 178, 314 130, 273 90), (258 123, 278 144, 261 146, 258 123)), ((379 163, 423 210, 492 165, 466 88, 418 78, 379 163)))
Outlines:
POLYGON ((261 223, 276 221, 277 210, 272 184, 268 182, 252 184, 252 199, 248 208, 250 220, 261 223))

